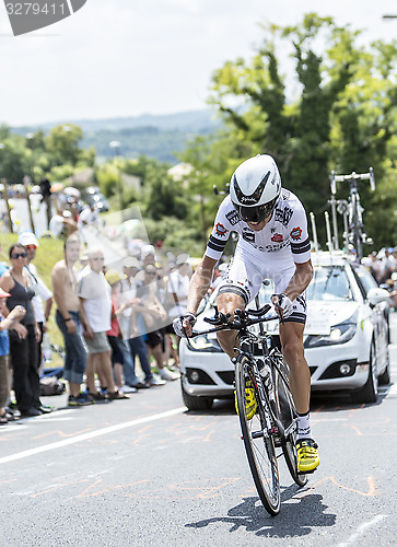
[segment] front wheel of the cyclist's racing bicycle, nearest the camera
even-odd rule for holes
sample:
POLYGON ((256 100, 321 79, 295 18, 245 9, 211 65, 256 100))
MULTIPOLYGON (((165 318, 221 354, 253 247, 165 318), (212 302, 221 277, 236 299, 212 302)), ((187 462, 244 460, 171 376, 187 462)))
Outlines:
POLYGON ((271 515, 276 515, 280 511, 280 481, 276 450, 272 438, 267 433, 265 411, 252 365, 244 356, 237 358, 235 382, 238 418, 254 482, 265 509, 271 515), (249 387, 254 388, 257 404, 252 419, 247 417, 245 404, 247 382, 250 382, 249 387))

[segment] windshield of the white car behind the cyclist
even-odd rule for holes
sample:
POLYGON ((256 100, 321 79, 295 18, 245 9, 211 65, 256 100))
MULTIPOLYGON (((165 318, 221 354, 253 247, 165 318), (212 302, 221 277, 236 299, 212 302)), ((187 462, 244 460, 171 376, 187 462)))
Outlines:
POLYGON ((308 300, 353 300, 350 283, 342 266, 315 266, 307 287, 308 300))

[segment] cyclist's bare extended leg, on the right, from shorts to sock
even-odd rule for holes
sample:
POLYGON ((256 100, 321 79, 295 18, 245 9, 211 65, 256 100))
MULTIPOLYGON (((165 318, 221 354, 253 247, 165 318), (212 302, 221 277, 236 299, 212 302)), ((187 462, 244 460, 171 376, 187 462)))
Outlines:
POLYGON ((290 387, 299 414, 308 411, 311 398, 311 373, 303 350, 303 330, 301 323, 280 324, 282 354, 290 368, 290 387))

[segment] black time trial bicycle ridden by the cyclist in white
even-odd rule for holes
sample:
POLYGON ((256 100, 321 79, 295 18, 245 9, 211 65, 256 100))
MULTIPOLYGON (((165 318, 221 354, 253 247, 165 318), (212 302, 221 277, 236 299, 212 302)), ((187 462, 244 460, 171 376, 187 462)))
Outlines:
POLYGON ((300 487, 307 476, 297 470, 295 449, 297 415, 289 386, 289 368, 264 323, 277 318, 265 317, 271 305, 259 310, 235 310, 234 317, 215 307, 214 317, 205 322, 212 328, 199 336, 220 330, 235 330, 238 344, 235 365, 235 393, 242 439, 256 489, 265 509, 271 515, 280 511, 280 479, 278 458, 284 456, 293 480, 300 487), (259 333, 249 327, 259 326, 259 333))

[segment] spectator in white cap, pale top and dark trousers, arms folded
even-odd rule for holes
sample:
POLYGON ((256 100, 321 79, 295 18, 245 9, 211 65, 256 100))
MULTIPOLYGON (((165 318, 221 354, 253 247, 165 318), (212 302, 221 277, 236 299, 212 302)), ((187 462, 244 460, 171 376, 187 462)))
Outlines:
POLYGON ((148 358, 147 346, 144 344, 143 336, 138 333, 136 325, 136 314, 132 310, 137 306, 137 287, 136 287, 136 275, 140 269, 140 264, 137 258, 127 257, 122 261, 122 269, 125 278, 121 279, 119 303, 120 307, 117 310, 117 316, 119 318, 119 324, 122 333, 122 337, 128 341, 133 366, 133 375, 137 380, 127 377, 126 383, 138 389, 145 387, 154 387, 159 385, 164 385, 165 382, 154 377, 150 361, 148 358), (136 375, 136 358, 139 358, 142 372, 144 374, 144 381, 141 382, 136 375))

